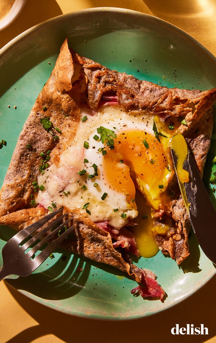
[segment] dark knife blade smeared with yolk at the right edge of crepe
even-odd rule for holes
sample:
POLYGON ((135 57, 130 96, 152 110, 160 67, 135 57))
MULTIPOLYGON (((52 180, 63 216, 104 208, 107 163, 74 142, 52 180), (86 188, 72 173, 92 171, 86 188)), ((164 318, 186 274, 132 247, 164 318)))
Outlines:
POLYGON ((214 206, 189 149, 183 163, 183 169, 189 173, 189 182, 180 182, 177 171, 177 156, 172 148, 171 154, 193 231, 205 255, 216 264, 216 211, 214 206))

